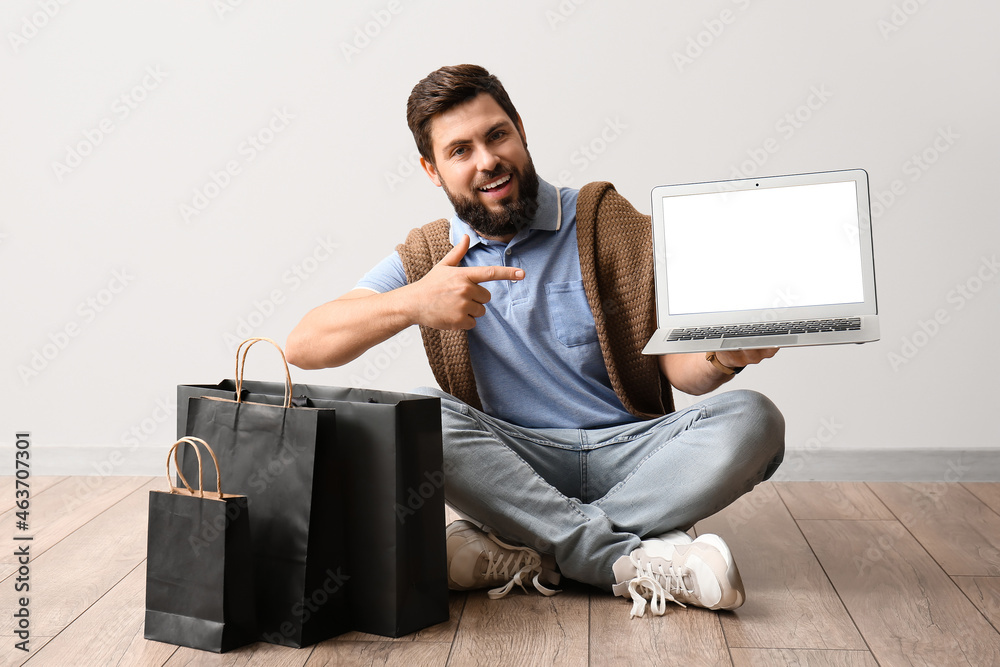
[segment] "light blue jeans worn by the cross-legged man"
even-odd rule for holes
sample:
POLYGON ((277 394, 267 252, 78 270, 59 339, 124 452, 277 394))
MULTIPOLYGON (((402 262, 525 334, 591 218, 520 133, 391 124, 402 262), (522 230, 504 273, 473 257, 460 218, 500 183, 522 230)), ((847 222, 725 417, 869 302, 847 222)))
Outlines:
POLYGON ((784 453, 784 418, 753 391, 596 429, 522 428, 438 389, 416 391, 441 398, 448 504, 606 590, 612 564, 642 538, 718 512, 784 453))

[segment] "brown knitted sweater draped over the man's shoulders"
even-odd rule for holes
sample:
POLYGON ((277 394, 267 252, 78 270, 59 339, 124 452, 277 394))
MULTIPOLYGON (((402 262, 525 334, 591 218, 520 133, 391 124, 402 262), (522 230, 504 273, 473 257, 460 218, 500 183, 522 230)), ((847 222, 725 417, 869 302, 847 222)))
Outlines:
MULTIPOLYGON (((445 219, 429 223, 396 247, 407 281, 420 280, 451 250, 449 226, 445 219)), ((584 291, 611 387, 637 417, 673 412, 670 385, 657 357, 642 354, 656 331, 649 216, 636 211, 610 183, 590 183, 577 196, 576 235, 584 291)), ((441 389, 482 409, 466 332, 420 327, 420 333, 441 389)))

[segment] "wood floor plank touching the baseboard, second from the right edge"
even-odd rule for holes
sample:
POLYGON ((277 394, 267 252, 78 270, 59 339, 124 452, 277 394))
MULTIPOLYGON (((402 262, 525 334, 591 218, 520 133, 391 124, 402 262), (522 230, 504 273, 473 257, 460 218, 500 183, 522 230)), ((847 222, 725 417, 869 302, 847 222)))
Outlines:
POLYGON ((1000 576, 1000 515, 961 484, 870 483, 951 575, 1000 576))

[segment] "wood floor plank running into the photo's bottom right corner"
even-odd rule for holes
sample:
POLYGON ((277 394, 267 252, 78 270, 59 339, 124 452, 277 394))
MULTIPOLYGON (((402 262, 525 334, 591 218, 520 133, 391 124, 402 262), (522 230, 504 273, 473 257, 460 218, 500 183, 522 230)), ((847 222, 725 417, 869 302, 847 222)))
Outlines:
POLYGON ((799 525, 879 664, 1000 664, 1000 634, 899 522, 799 525))

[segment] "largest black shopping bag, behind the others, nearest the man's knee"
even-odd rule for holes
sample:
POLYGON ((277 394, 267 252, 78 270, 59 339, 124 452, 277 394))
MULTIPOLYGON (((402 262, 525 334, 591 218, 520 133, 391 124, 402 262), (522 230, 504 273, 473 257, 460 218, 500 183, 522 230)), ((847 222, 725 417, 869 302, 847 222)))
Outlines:
MULTIPOLYGON (((274 382, 177 387, 178 428, 197 396, 280 404, 274 382)), ((448 620, 441 401, 389 391, 295 385, 293 405, 333 408, 343 462, 347 580, 355 630, 400 637, 448 620)), ((252 497, 252 494, 251 494, 252 497)))

